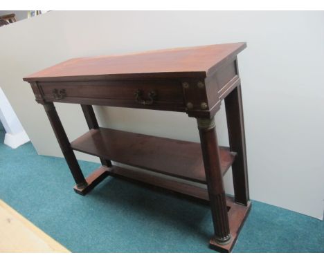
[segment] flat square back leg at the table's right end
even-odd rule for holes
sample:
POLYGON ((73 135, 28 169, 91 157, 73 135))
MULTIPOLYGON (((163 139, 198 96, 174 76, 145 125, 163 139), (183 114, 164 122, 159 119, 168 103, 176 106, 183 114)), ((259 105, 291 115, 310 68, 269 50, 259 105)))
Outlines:
POLYGON ((232 164, 235 202, 248 205, 249 182, 246 164, 244 120, 241 87, 237 86, 225 97, 228 138, 231 151, 237 156, 232 164))

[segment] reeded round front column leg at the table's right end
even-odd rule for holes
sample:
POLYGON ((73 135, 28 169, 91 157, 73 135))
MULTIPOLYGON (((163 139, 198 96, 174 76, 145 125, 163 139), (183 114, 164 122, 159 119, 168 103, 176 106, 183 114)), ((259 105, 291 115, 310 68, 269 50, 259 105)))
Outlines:
POLYGON ((219 149, 215 131, 215 120, 197 119, 201 149, 204 158, 204 167, 213 216, 215 242, 226 245, 231 242, 228 224, 226 196, 219 161, 219 149))

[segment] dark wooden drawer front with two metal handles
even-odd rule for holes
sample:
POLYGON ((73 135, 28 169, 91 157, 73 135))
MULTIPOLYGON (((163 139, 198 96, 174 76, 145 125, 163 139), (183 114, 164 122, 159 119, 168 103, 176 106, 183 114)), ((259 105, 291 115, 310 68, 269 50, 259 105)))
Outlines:
POLYGON ((135 108, 174 107, 184 109, 181 82, 42 82, 46 102, 72 102, 135 108))

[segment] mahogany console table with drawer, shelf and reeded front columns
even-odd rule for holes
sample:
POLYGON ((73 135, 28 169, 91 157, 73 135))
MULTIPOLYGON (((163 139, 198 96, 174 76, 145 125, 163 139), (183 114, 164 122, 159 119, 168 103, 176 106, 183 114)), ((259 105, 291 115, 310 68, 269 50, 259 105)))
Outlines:
POLYGON ((207 200, 213 216, 210 247, 231 252, 251 208, 237 54, 245 43, 70 59, 24 78, 44 106, 57 141, 85 195, 107 176, 119 176, 207 200), (214 115, 224 99, 230 147, 219 147, 214 115), (53 102, 80 104, 89 132, 69 142, 53 102), (201 143, 105 129, 92 105, 186 112, 197 119, 201 143), (73 151, 96 155, 102 166, 84 178, 73 151), (185 179, 151 176, 111 160, 185 179), (235 197, 222 176, 232 166, 235 197), (199 185, 192 185, 199 182, 199 185))

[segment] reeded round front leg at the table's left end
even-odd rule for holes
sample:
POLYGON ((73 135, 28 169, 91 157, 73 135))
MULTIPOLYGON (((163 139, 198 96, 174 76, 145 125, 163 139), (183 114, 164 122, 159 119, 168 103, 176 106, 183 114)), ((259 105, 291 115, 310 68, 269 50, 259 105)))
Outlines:
POLYGON ((57 115, 57 111, 55 109, 54 104, 53 103, 45 103, 44 109, 48 116, 48 120, 51 122, 53 131, 55 133, 57 141, 60 144, 64 158, 65 158, 67 164, 69 165, 70 171, 71 171, 72 176, 75 180, 75 183, 77 184, 77 187, 78 188, 87 187, 87 185, 88 185, 87 181, 84 179, 83 173, 82 173, 80 166, 78 164, 78 160, 75 158, 73 149, 71 149, 69 139, 67 138, 67 135, 64 131, 60 117, 57 115))

